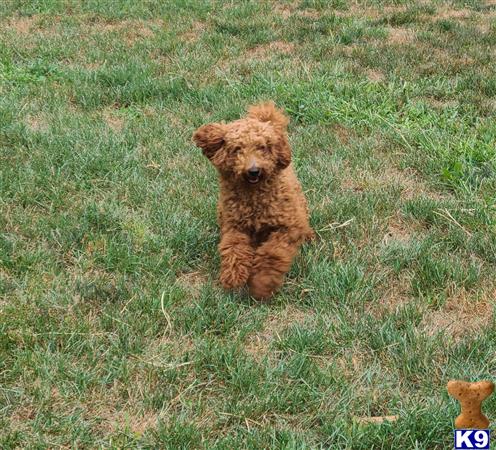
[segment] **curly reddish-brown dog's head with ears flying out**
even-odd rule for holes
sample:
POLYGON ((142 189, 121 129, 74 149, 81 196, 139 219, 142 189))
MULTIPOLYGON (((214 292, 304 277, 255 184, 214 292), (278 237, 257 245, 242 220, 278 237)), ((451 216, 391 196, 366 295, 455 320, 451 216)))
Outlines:
POLYGON ((263 103, 235 122, 203 125, 193 141, 224 177, 255 186, 290 164, 288 123, 274 103, 263 103))

